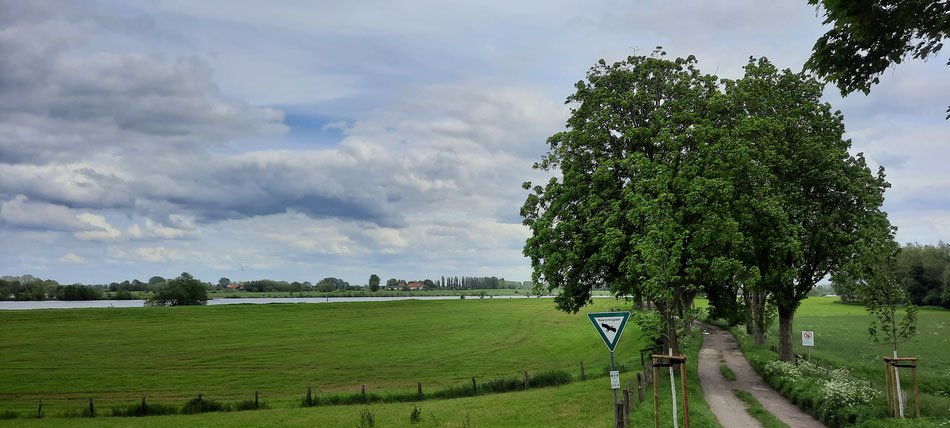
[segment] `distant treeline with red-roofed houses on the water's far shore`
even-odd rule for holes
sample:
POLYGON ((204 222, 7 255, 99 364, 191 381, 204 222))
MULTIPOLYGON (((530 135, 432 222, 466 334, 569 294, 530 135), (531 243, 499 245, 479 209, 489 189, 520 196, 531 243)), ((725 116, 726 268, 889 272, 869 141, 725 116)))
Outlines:
MULTIPOLYGON (((183 273, 190 281, 195 281, 188 273, 183 273)), ((144 298, 143 294, 155 294, 166 290, 172 278, 153 276, 147 282, 138 279, 113 282, 110 284, 70 284, 62 285, 51 279, 41 279, 33 275, 4 276, 0 278, 0 301, 38 301, 38 300, 131 300, 144 298)), ((251 281, 231 281, 221 278, 217 283, 198 281, 204 289, 212 293, 331 293, 339 291, 376 292, 380 289, 379 277, 372 275, 369 284, 350 284, 339 278, 327 277, 316 283, 310 281, 275 281, 259 279, 251 281)), ((421 284, 424 290, 491 290, 491 289, 530 289, 530 282, 507 281, 497 277, 459 277, 443 276, 436 280, 424 279, 405 281, 390 278, 386 288, 395 291, 409 291, 409 284, 421 284)))

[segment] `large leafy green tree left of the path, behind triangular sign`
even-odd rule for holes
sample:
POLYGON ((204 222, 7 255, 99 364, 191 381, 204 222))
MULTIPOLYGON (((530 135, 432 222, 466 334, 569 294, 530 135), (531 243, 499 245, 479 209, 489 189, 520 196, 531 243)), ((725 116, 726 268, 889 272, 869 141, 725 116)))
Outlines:
POLYGON ((642 294, 678 352, 676 320, 703 284, 736 266, 726 247, 738 226, 724 202, 733 189, 722 174, 718 80, 692 56, 664 55, 601 60, 575 85, 567 130, 535 165, 556 176, 524 184, 521 215, 532 279, 563 288, 559 309, 578 311, 593 288, 642 294))

